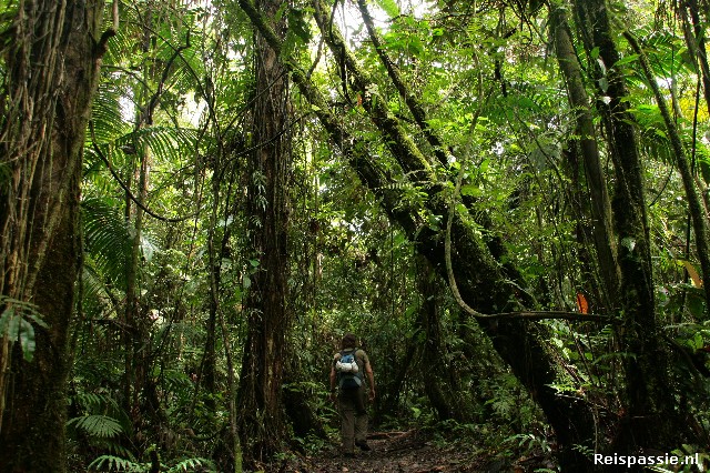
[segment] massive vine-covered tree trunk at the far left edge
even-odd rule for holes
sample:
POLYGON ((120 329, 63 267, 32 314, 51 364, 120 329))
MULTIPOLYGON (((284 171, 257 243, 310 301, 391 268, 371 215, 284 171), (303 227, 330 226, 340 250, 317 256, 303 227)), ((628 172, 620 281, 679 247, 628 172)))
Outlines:
POLYGON ((18 343, 2 339, 0 465, 3 472, 63 472, 81 154, 110 34, 98 36, 103 1, 20 6, 3 51, 0 98, 1 165, 9 173, 0 191, 0 306, 19 314, 13 301, 34 304, 48 326, 34 325, 31 362, 18 343))

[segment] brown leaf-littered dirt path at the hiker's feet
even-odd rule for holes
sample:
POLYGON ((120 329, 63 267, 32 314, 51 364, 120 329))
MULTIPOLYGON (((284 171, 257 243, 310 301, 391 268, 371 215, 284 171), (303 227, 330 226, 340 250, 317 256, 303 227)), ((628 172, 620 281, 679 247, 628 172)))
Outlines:
MULTIPOLYGON (((371 452, 346 457, 336 449, 313 456, 284 462, 280 472, 288 473, 428 473, 428 472, 532 472, 554 469, 542 455, 500 459, 476 452, 474 446, 442 445, 418 431, 378 432, 367 436, 371 452)), ((554 470, 552 470, 554 471, 554 470)))

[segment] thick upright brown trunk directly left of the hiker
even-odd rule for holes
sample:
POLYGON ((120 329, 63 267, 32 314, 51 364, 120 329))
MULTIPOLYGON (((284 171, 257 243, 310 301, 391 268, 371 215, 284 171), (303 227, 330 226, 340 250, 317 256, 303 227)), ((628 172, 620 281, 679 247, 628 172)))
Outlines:
MULTIPOLYGON (((281 3, 262 0, 260 9, 274 18, 281 3)), ((250 268, 254 273, 244 306, 248 326, 237 394, 240 437, 247 461, 268 457, 284 439, 282 384, 291 319, 286 303, 291 165, 287 77, 260 33, 255 54, 254 151, 247 188, 247 234, 253 251, 250 268)))

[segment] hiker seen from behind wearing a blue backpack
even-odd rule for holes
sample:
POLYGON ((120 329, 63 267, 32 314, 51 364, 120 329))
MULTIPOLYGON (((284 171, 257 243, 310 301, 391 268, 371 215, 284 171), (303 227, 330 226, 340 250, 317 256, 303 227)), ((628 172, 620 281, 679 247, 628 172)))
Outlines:
POLYGON ((375 399, 373 369, 367 353, 357 348, 357 338, 346 333, 341 342, 341 351, 331 364, 331 400, 337 401, 341 413, 341 439, 345 456, 355 456, 355 446, 363 451, 371 450, 367 445, 366 393, 369 401, 375 399))

